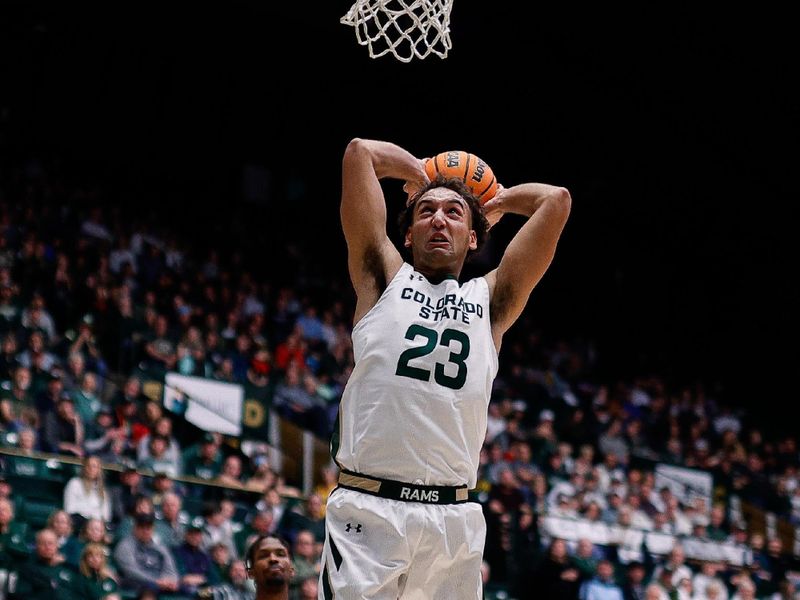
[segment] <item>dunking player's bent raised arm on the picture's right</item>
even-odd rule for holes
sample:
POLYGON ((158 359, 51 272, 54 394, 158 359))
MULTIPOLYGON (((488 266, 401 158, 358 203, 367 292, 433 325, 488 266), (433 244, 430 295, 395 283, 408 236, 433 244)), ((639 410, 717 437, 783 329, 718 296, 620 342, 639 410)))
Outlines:
POLYGON ((506 213, 528 217, 508 244, 497 269, 486 276, 492 298, 492 335, 497 348, 550 266, 571 204, 572 198, 563 187, 525 183, 502 189, 484 205, 490 223, 496 223, 506 213))

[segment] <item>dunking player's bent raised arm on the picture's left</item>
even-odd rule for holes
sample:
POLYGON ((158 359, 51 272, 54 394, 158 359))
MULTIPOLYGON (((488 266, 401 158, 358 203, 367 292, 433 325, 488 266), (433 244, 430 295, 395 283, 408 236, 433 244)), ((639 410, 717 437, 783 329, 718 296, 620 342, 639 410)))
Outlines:
POLYGON ((390 177, 422 185, 421 160, 395 144, 354 139, 342 161, 342 229, 347 264, 358 302, 358 322, 378 301, 403 259, 386 233, 386 201, 380 179, 390 177))

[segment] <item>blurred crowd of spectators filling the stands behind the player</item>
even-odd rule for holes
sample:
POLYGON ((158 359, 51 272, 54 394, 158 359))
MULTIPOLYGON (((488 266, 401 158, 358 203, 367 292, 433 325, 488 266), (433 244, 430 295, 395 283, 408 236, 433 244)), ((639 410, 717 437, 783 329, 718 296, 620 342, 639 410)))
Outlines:
MULTIPOLYGON (((58 582, 65 598, 247 598, 247 543, 277 532, 293 545, 292 593, 316 597, 335 469, 303 497, 266 455, 196 431, 142 381, 239 383, 326 440, 353 365, 351 299, 303 277, 276 283, 174 223, 90 200, 42 168, 0 180, 0 596, 13 571, 17 597, 58 582), (37 452, 81 466, 33 531, 11 476, 43 476, 37 452)), ((487 597, 794 598, 794 548, 755 531, 732 499, 800 524, 796 438, 746 417, 699 383, 600 372, 592 346, 523 315, 504 341, 474 491, 487 597), (712 494, 657 486, 658 463, 711 473, 712 494), (657 553, 568 540, 546 516, 676 541, 657 553), (738 545, 747 559, 687 558, 688 539, 738 545)))

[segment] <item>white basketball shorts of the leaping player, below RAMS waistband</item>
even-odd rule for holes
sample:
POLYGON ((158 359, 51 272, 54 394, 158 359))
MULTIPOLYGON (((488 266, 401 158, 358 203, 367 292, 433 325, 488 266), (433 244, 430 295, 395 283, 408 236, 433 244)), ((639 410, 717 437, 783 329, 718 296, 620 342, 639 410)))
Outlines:
POLYGON ((319 599, 479 600, 481 506, 424 504, 336 488, 328 497, 319 599))

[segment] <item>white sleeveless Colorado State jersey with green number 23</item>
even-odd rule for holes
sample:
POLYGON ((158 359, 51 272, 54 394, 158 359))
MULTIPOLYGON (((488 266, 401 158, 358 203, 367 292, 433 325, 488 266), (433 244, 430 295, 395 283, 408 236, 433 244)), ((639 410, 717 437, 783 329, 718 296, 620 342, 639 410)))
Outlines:
POLYGON ((497 374, 486 279, 434 285, 404 263, 353 328, 353 350, 331 442, 339 466, 475 487, 497 374))

